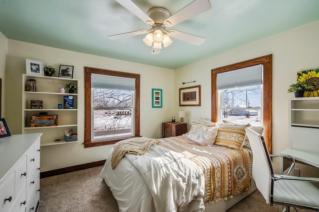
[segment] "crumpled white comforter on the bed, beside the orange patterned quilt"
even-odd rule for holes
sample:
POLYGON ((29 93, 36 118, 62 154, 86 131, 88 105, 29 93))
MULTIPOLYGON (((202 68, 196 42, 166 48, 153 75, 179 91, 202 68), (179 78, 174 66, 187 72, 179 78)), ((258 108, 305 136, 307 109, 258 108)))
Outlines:
POLYGON ((157 212, 182 212, 190 202, 203 198, 203 172, 182 154, 153 145, 143 155, 126 157, 143 176, 157 212))

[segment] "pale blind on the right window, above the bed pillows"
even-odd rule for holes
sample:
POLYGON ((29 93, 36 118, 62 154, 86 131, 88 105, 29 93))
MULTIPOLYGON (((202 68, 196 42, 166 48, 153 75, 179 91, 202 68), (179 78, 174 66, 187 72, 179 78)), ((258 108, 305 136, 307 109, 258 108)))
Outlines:
POLYGON ((256 65, 234 71, 217 73, 217 90, 263 83, 263 66, 256 65))

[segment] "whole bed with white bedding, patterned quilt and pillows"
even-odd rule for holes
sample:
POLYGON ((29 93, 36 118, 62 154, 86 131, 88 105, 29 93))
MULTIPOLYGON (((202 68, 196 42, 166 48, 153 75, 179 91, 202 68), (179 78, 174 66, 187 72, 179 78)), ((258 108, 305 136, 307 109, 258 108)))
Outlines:
POLYGON ((256 190, 252 153, 243 145, 245 127, 192 121, 190 131, 182 136, 123 140, 112 148, 100 176, 120 212, 225 212, 256 190), (192 137, 195 131, 196 138, 192 137), (234 132, 239 143, 229 142, 226 136, 234 132), (145 153, 124 151, 116 161, 114 152, 121 143, 149 144, 145 153))

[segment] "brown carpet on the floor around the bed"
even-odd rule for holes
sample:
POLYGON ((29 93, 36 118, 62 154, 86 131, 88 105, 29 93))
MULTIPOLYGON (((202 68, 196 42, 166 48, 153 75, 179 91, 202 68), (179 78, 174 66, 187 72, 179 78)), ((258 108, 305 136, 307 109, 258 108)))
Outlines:
MULTIPOLYGON (((112 192, 100 178, 101 169, 99 166, 41 179, 39 212, 118 212, 112 192)), ((268 206, 255 191, 227 212, 278 212, 278 209, 268 206)))

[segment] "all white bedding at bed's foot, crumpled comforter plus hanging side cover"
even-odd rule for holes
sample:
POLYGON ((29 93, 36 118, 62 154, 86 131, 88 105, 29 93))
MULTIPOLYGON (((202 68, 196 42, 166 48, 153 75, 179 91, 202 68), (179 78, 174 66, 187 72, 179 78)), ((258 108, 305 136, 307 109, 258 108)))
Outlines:
POLYGON ((143 155, 126 154, 112 170, 111 154, 100 176, 117 199, 120 212, 204 210, 204 175, 183 155, 153 145, 143 155))

